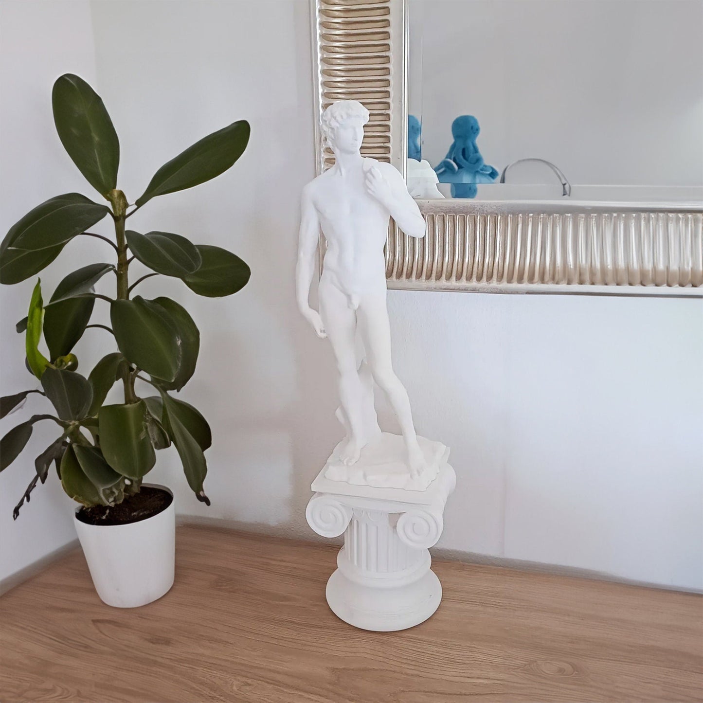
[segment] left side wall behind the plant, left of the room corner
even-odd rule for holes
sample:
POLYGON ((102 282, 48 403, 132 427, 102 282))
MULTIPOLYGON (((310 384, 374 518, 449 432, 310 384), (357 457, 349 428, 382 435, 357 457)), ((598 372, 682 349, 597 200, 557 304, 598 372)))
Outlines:
MULTIPOLYGON (((51 114, 51 86, 63 72, 79 72, 95 81, 95 54, 90 5, 86 1, 4 1, 0 4, 0 229, 4 233, 35 205, 61 193, 84 192, 84 185, 61 146, 51 114)), ((99 197, 99 196, 98 196, 99 197)), ((45 299, 68 271, 100 261, 107 245, 79 238, 68 245, 56 264, 41 272, 45 299), (67 268, 71 266, 71 268, 67 268)), ((110 250, 108 249, 108 252, 110 250)), ((109 254, 108 254, 109 255, 109 254)), ((0 384, 3 395, 39 387, 27 373, 24 335, 15 323, 27 314, 37 278, 2 286, 0 310, 0 384)), ((94 330, 93 330, 94 332, 94 330)), ((86 335, 82 361, 95 359, 94 338, 86 335), (89 338, 90 337, 90 338, 89 338)), ((84 368, 82 369, 84 370, 84 368)), ((32 394, 20 411, 0 422, 0 432, 46 413, 46 399, 32 394)), ((35 475, 34 457, 58 437, 56 425, 34 425, 30 444, 2 474, 0 490, 0 579, 18 572, 75 539, 72 505, 51 470, 44 486, 37 486, 13 522, 13 507, 35 475)))

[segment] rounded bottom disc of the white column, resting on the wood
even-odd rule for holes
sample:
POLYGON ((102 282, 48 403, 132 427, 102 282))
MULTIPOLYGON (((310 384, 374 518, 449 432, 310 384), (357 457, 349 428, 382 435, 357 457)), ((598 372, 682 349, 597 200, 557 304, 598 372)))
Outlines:
POLYGON ((394 632, 419 625, 441 601, 441 583, 431 570, 405 586, 362 586, 337 569, 325 591, 332 612, 361 630, 394 632))

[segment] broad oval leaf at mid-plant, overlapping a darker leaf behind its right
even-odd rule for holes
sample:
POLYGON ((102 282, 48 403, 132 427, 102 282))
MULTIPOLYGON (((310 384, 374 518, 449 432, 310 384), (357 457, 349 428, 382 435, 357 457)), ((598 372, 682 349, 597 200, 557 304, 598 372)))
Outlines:
POLYGON ((163 307, 137 295, 113 301, 110 319, 117 347, 131 363, 157 378, 176 378, 183 359, 181 338, 163 307))

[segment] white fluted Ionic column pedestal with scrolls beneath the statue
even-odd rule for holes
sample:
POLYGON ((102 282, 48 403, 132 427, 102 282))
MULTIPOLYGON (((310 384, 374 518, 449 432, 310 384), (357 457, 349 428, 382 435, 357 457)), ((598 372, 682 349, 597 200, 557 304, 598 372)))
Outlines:
POLYGON ((327 582, 332 611, 373 631, 404 630, 427 620, 441 600, 428 548, 444 526, 444 505, 456 484, 453 468, 443 463, 425 491, 331 481, 325 469, 312 483, 316 493, 305 515, 323 537, 344 533, 337 570, 327 582))

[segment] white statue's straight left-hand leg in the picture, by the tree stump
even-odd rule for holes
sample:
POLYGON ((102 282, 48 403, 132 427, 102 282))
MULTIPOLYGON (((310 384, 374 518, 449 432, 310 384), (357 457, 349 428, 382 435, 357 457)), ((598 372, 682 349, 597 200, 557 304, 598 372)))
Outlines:
POLYGON ((342 424, 347 429, 347 441, 340 449, 342 463, 359 460, 364 445, 363 392, 356 369, 356 312, 349 309, 347 296, 330 283, 320 283, 318 289, 320 314, 340 372, 340 401, 342 424))

